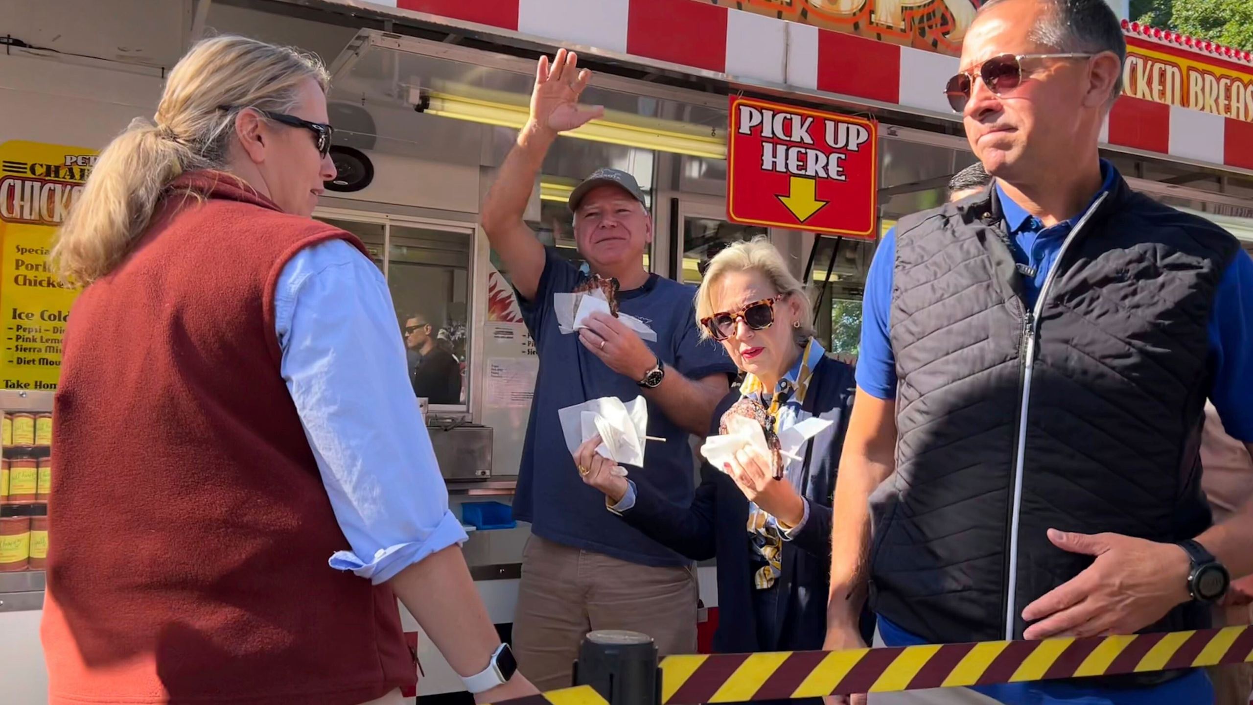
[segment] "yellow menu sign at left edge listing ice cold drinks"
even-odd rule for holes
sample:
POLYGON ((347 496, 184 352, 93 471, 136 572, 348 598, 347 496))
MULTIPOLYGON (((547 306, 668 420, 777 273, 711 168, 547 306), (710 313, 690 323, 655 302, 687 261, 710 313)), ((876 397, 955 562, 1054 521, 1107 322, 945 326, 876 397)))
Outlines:
POLYGON ((53 235, 95 164, 80 147, 0 144, 0 388, 56 389, 61 337, 78 290, 48 266, 53 235))

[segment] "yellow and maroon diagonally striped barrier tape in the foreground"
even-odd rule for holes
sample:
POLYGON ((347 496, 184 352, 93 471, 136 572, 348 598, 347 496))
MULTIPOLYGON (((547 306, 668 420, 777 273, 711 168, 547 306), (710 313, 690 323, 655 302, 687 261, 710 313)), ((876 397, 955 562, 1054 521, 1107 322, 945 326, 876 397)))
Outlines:
MULTIPOLYGON (((1243 662, 1253 662, 1253 626, 1042 641, 667 656, 660 665, 662 705, 892 692, 1243 662)), ((590 686, 580 686, 510 702, 605 701, 590 686)))

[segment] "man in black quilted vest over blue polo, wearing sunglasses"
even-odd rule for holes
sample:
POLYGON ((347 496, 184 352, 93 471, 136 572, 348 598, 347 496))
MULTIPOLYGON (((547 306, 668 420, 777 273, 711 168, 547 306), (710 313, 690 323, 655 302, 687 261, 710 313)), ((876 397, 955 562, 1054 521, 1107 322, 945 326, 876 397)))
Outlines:
MULTIPOLYGON (((1253 442, 1253 261, 1100 159, 1124 55, 1101 0, 967 31, 944 88, 995 184, 871 265, 828 647, 863 645, 867 592, 888 646, 1034 640, 1204 627, 1253 572, 1253 504, 1213 524, 1197 452, 1207 398, 1253 442)), ((936 701, 1214 697, 1197 669, 976 690, 936 701)))

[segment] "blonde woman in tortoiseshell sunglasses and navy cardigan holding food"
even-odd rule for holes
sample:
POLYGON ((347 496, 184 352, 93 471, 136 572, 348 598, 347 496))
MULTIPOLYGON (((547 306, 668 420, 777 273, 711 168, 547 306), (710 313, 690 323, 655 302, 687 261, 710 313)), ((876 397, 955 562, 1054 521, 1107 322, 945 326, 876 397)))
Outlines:
MULTIPOLYGON (((718 558, 722 654, 818 650, 826 636, 831 493, 853 399, 853 369, 827 356, 809 325, 809 296, 764 238, 730 245, 709 262, 697 294, 703 336, 746 374, 714 411, 709 435, 748 408, 774 434, 806 419, 829 427, 792 458, 741 444, 722 467, 705 462, 690 503, 623 475, 593 437, 574 455, 604 511, 693 561, 718 558), (782 470, 778 473, 777 470, 782 470), (781 479, 776 479, 781 477, 781 479)), ((868 616, 868 613, 867 613, 868 616)), ((868 636, 873 622, 865 622, 868 636)))

